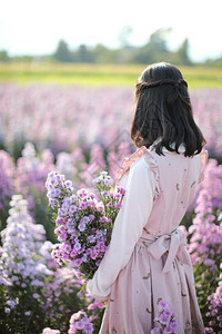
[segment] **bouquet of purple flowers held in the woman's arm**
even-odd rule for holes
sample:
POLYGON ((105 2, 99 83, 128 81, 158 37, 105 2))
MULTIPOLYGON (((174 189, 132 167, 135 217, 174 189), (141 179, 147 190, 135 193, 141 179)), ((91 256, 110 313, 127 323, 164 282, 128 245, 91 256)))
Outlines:
POLYGON ((51 171, 46 187, 49 206, 56 212, 54 233, 59 244, 52 250, 53 258, 62 265, 82 274, 82 278, 92 278, 108 249, 113 222, 121 208, 124 188, 117 187, 107 171, 101 171, 92 180, 93 191, 74 191, 71 180, 51 171))

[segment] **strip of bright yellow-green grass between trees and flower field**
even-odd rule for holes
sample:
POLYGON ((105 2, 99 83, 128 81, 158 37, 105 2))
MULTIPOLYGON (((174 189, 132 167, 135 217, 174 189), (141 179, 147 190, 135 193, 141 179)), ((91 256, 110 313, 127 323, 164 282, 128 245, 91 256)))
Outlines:
MULTIPOLYGON (((0 82, 133 87, 144 66, 92 63, 0 63, 0 82)), ((222 69, 180 67, 191 89, 222 88, 222 69)))

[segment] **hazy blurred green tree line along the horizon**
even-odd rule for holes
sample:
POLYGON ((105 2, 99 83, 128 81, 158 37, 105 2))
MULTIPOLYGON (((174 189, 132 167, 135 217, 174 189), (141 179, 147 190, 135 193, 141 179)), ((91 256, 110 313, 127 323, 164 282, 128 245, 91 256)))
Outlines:
MULTIPOLYGON (((120 48, 108 48, 101 43, 89 47, 80 45, 71 50, 65 40, 61 39, 52 55, 32 57, 9 57, 6 50, 0 51, 0 61, 57 61, 57 62, 88 62, 88 63, 152 63, 157 61, 169 61, 175 65, 192 66, 194 62, 189 55, 189 39, 185 38, 175 51, 168 47, 168 33, 171 28, 158 29, 148 42, 135 47, 129 42, 130 30, 125 29, 120 36, 120 48)), ((206 60, 205 65, 222 66, 222 58, 206 60)))

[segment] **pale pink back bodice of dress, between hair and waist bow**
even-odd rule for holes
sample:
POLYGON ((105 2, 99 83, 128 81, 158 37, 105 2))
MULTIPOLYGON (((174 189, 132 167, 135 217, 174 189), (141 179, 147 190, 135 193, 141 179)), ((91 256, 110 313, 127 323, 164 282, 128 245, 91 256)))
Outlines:
POLYGON ((164 150, 150 153, 159 169, 159 198, 148 220, 150 233, 161 235, 175 229, 195 196, 200 179, 201 156, 184 157, 164 150), (158 219, 158 224, 157 224, 158 219))

